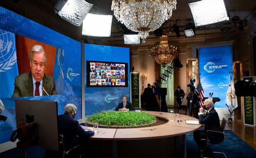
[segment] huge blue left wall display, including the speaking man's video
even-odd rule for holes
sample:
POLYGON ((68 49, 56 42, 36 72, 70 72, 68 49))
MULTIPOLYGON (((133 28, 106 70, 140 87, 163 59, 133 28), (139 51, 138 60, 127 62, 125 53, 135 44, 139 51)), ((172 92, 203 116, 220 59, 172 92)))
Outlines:
POLYGON ((67 103, 73 103, 75 119, 82 118, 81 60, 77 61, 81 43, 3 7, 0 14, 0 100, 5 106, 1 115, 7 117, 0 121, 3 151, 10 146, 2 143, 9 142, 17 129, 17 99, 57 101, 58 114, 64 113, 67 103), (35 45, 43 48, 43 55, 35 45), (33 47, 35 53, 30 56, 33 47))

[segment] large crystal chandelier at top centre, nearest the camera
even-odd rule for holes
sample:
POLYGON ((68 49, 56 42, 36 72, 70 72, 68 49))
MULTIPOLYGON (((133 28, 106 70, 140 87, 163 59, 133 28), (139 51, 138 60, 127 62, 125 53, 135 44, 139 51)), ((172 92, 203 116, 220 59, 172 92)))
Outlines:
POLYGON ((176 9, 176 0, 113 0, 111 10, 118 21, 145 39, 159 28, 176 9))

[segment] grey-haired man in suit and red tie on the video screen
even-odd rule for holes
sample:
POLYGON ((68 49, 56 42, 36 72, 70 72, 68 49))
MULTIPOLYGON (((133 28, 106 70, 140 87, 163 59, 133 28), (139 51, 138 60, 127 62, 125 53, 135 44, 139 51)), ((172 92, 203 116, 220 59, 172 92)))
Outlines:
POLYGON ((33 46, 30 50, 31 71, 15 78, 12 97, 57 95, 54 79, 44 73, 45 66, 46 54, 43 47, 33 46))

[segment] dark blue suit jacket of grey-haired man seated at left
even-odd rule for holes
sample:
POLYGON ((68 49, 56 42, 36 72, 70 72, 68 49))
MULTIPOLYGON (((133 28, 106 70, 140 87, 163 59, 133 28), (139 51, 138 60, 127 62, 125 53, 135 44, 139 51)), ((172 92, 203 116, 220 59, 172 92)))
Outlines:
POLYGON ((76 136, 83 140, 94 135, 93 131, 85 131, 69 114, 61 114, 58 116, 58 132, 63 135, 65 151, 76 145, 76 136))

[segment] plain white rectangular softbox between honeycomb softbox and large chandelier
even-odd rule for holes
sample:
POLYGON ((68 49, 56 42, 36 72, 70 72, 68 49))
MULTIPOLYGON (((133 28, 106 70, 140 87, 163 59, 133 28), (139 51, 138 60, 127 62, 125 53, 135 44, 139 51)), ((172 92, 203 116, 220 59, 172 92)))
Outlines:
POLYGON ((87 14, 83 20, 83 35, 110 37, 112 15, 87 14))

